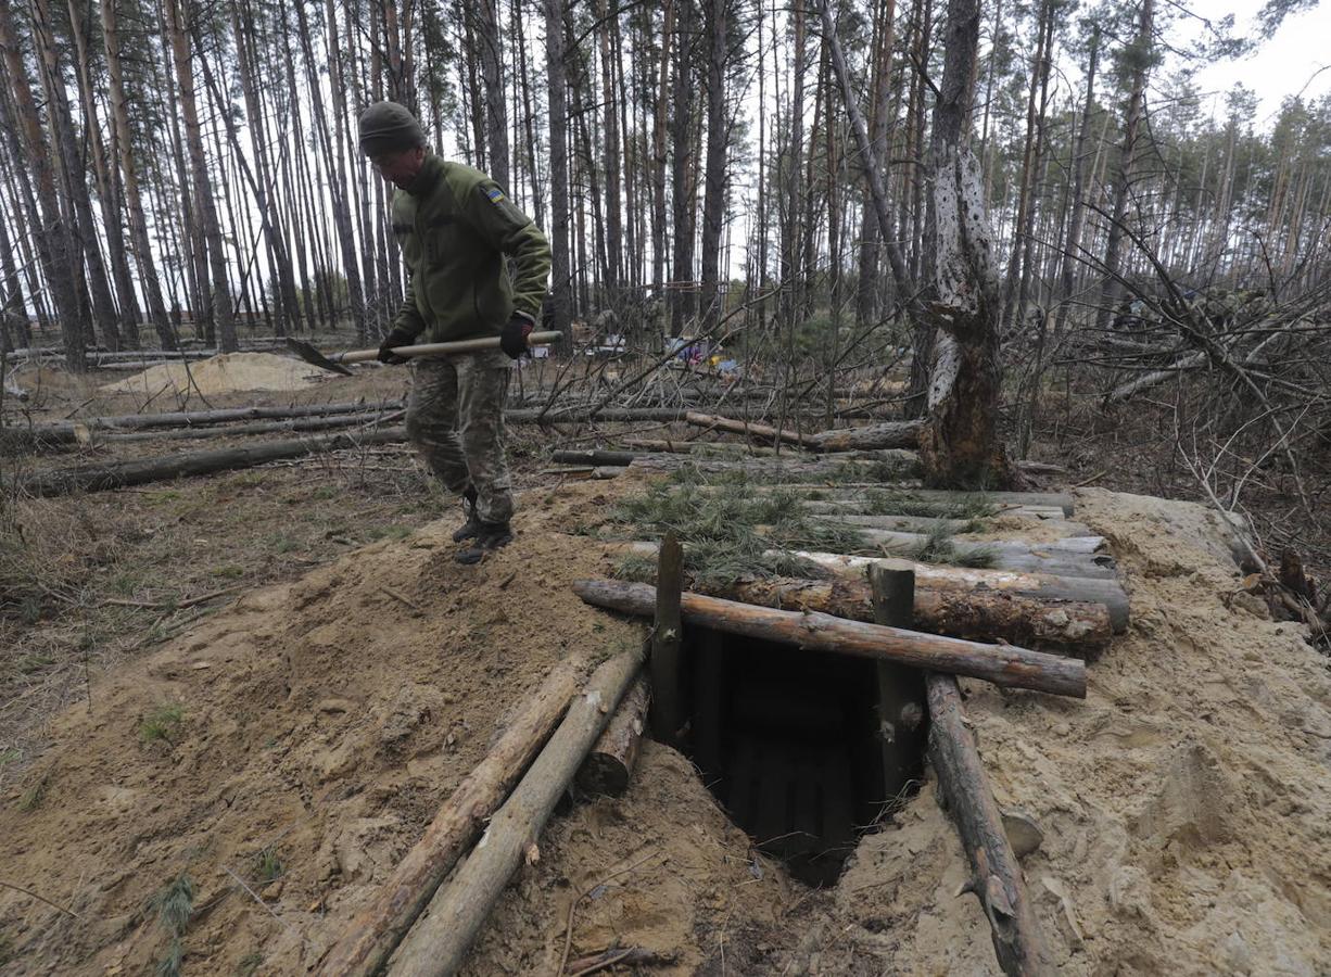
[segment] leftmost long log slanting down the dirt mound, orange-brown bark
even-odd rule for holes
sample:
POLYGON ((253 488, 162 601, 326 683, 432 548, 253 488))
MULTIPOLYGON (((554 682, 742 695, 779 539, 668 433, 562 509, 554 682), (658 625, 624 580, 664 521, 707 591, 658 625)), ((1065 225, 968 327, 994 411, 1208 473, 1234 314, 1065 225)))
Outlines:
POLYGON ((555 666, 526 700, 484 760, 445 801, 425 835, 323 958, 323 977, 377 973, 406 936, 439 884, 480 836, 514 783, 546 743, 578 691, 582 662, 555 666))

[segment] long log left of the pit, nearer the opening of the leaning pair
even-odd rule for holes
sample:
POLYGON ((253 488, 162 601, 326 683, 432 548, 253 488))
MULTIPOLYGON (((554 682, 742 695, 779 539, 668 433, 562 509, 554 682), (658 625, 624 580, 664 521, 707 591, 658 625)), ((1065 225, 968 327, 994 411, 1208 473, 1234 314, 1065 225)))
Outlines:
POLYGON ((427 913, 393 954, 389 969, 394 977, 434 977, 458 970, 523 857, 527 861, 539 857, 536 839, 542 828, 642 663, 640 650, 628 651, 592 674, 586 692, 568 707, 555 735, 499 808, 471 855, 447 885, 435 892, 427 913))

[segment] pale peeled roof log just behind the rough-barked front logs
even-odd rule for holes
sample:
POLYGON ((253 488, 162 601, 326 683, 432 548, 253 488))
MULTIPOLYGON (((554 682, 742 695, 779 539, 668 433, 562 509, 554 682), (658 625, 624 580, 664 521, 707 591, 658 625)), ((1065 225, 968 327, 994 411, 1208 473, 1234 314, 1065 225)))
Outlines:
MULTIPOLYGON (((775 551, 773 551, 775 552, 775 551)), ((845 556, 836 552, 795 550, 796 556, 833 574, 861 578, 878 558, 845 556)), ((1122 584, 1114 579, 1091 576, 1058 576, 1017 570, 988 570, 978 567, 945 567, 913 562, 916 586, 929 590, 972 591, 989 588, 1024 596, 1061 600, 1081 600, 1109 608, 1109 622, 1114 634, 1127 630, 1129 604, 1122 584)))

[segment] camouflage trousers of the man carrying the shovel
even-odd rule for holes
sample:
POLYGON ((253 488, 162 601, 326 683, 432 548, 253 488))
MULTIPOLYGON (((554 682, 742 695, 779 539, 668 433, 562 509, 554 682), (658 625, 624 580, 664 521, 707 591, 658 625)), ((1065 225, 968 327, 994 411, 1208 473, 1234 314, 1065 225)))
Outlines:
POLYGON ((443 487, 476 491, 476 515, 508 522, 512 491, 503 451, 510 359, 500 350, 411 365, 407 439, 443 487))

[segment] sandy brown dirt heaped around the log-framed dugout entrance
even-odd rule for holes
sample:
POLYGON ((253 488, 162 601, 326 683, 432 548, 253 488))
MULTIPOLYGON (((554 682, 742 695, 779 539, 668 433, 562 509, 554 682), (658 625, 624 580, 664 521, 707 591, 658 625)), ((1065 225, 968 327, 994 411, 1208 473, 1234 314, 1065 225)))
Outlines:
MULTIPOLYGON (((409 455, 361 465, 359 488, 349 467, 289 467, 162 488, 177 498, 29 503, 43 507, 33 520, 64 512, 72 527, 84 512, 96 526, 98 506, 118 527, 132 508, 142 540, 104 556, 120 567, 108 574, 141 574, 122 584, 129 599, 242 590, 93 658, 91 707, 67 696, 24 727, 36 733, 21 761, 0 765, 0 881, 27 890, 0 889, 5 973, 144 973, 169 942, 154 896, 182 875, 184 973, 307 972, 555 662, 642 640, 640 624, 570 590, 608 560, 568 532, 626 486, 524 474, 515 543, 463 568, 443 500, 410 471, 375 470, 411 469, 409 455), (319 520, 339 510, 327 535, 319 520), (375 542, 369 526, 395 528, 375 542), (208 555, 182 579, 201 563, 177 552, 193 538, 244 556, 208 555)), ((1201 508, 1085 490, 1075 518, 1110 539, 1133 602, 1087 699, 962 683, 1000 804, 1044 832, 1024 867, 1061 969, 1326 973, 1326 659, 1239 592, 1201 508)), ((97 567, 68 575, 83 612, 97 567)), ((39 600, 16 634, 59 628, 59 603, 39 600)), ((161 612, 96 610, 140 615, 108 635, 161 612)), ((540 849, 466 973, 554 973, 566 936, 572 957, 620 944, 669 961, 643 973, 997 973, 977 901, 956 894, 965 860, 929 784, 828 890, 755 855, 689 761, 655 744, 623 799, 572 804, 540 849)))

